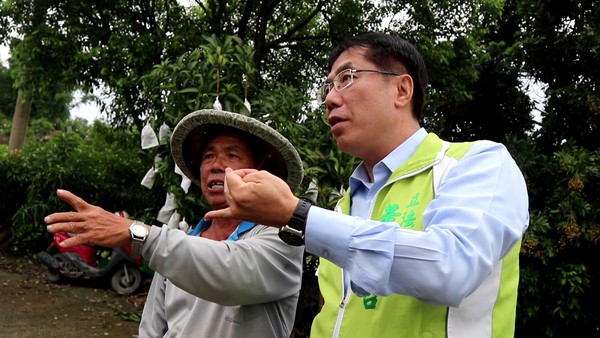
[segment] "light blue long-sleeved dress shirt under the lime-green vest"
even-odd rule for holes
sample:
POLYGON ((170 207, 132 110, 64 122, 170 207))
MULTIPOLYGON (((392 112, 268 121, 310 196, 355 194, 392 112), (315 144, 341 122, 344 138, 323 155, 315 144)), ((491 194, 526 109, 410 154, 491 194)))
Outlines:
POLYGON ((418 130, 373 168, 350 178, 351 215, 311 207, 306 251, 332 261, 345 292, 400 293, 427 303, 458 306, 521 239, 529 224, 525 180, 507 149, 475 142, 444 177, 423 214, 424 231, 370 220, 372 203, 391 173, 425 139, 418 130))

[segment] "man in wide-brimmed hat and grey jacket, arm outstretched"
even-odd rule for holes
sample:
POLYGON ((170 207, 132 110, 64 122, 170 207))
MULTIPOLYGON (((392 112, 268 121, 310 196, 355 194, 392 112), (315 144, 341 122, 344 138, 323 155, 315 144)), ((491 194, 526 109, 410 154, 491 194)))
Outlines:
MULTIPOLYGON (((295 189, 302 163, 275 130, 224 111, 194 112, 172 135, 173 157, 198 184, 213 210, 227 207, 225 168, 269 170, 295 189)), ((289 337, 302 274, 302 247, 283 243, 277 229, 242 219, 206 221, 188 235, 168 227, 114 217, 73 194, 59 191, 76 212, 46 218, 51 232, 91 242, 132 245, 154 276, 142 314, 140 337, 289 337)))

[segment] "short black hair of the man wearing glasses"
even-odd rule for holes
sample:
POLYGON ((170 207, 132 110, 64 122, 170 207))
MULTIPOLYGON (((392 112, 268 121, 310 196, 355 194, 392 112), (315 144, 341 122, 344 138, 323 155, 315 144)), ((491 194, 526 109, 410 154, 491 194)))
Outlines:
POLYGON ((425 91, 429 78, 423 56, 410 42, 394 35, 384 33, 366 33, 347 38, 338 44, 329 54, 329 70, 346 50, 353 47, 367 48, 367 59, 381 67, 381 70, 390 72, 398 71, 396 64, 400 64, 410 75, 414 82, 413 115, 417 120, 423 118, 425 106, 425 91))

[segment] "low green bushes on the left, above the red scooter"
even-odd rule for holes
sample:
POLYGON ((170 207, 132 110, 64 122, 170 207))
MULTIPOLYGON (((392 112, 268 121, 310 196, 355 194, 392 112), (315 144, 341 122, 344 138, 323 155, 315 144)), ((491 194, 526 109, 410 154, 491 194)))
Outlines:
POLYGON ((44 217, 72 210, 56 197, 56 189, 149 223, 160 207, 160 190, 148 191, 139 184, 151 162, 145 165, 138 154, 136 133, 115 132, 99 121, 92 127, 73 121, 64 129, 69 131, 30 137, 22 153, 0 148, 0 189, 10 197, 1 200, 0 224, 11 224, 11 251, 33 255, 50 243, 44 217))

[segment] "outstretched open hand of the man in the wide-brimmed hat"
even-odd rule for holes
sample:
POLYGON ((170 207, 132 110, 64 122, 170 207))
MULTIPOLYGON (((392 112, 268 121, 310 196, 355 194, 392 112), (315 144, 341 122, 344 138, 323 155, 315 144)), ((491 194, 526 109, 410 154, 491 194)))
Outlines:
POLYGON ((75 209, 72 212, 54 213, 44 218, 49 232, 76 234, 61 242, 61 246, 89 244, 117 248, 131 244, 129 233, 131 220, 91 205, 67 190, 59 189, 56 195, 75 209))

